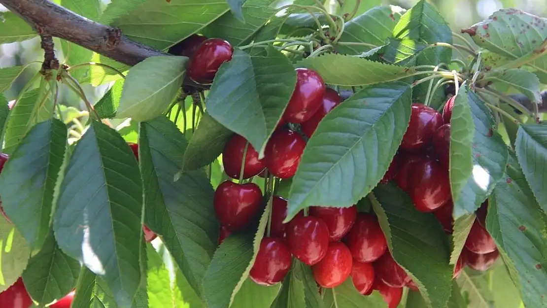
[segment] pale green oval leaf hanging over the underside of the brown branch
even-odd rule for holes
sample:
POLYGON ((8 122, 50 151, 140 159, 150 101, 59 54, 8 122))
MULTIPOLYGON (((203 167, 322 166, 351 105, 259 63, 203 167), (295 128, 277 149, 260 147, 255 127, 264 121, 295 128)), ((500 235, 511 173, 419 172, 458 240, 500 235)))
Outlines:
POLYGON ((116 117, 146 121, 164 113, 181 88, 187 61, 187 57, 155 56, 133 66, 125 78, 116 117))

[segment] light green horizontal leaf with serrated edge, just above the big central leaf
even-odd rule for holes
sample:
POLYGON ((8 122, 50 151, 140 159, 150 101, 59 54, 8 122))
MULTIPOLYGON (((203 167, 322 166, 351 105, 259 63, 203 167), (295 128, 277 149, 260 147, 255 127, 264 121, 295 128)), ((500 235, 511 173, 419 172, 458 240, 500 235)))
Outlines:
POLYGON ((415 72, 413 68, 335 54, 306 58, 297 64, 299 67, 314 69, 327 84, 343 86, 393 82, 415 72))

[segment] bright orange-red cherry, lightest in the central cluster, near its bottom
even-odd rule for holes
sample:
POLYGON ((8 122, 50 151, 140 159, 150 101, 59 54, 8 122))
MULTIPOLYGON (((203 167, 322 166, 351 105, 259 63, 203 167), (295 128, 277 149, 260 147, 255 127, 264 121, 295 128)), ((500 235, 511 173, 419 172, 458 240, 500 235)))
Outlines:
POLYGON ((344 243, 331 242, 325 257, 311 269, 319 286, 334 288, 350 277, 352 266, 350 249, 344 243))

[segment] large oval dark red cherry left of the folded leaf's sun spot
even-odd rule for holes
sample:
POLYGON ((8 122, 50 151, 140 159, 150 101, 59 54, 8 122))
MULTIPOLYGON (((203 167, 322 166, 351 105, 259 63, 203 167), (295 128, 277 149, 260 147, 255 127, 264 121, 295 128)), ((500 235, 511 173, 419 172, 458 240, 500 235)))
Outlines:
POLYGON ((418 211, 433 212, 452 197, 448 171, 432 159, 413 164, 408 181, 409 195, 418 211))

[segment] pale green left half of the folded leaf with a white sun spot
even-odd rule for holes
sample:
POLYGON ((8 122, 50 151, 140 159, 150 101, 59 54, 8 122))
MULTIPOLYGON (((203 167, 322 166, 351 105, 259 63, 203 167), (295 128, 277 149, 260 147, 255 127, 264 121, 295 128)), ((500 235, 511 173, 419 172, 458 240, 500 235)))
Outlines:
POLYGON ((450 187, 452 200, 458 200, 469 177, 473 175, 472 144, 475 124, 469 106, 469 86, 465 83, 458 91, 450 120, 450 187))

